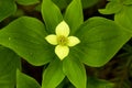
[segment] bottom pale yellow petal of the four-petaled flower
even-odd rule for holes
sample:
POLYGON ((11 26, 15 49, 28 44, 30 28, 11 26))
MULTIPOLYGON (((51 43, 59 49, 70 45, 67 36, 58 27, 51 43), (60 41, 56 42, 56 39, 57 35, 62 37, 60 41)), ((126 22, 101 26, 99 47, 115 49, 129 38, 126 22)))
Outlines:
POLYGON ((68 46, 62 46, 57 45, 55 47, 55 54, 58 56, 61 61, 63 61, 69 53, 69 47, 68 46))

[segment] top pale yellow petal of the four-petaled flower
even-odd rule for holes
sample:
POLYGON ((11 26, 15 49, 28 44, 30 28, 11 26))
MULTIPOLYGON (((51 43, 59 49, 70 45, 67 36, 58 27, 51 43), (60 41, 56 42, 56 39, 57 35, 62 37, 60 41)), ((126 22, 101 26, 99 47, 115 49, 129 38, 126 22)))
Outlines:
POLYGON ((69 26, 65 21, 62 21, 55 29, 56 35, 68 36, 69 35, 69 26))

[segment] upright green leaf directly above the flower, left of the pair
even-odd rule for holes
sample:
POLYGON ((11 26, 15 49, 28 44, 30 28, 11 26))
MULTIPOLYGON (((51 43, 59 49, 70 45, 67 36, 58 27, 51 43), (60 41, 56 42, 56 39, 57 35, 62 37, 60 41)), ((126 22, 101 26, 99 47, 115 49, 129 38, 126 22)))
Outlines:
POLYGON ((63 15, 59 8, 54 4, 52 0, 43 0, 42 16, 50 34, 55 33, 55 28, 61 21, 63 21, 63 15))

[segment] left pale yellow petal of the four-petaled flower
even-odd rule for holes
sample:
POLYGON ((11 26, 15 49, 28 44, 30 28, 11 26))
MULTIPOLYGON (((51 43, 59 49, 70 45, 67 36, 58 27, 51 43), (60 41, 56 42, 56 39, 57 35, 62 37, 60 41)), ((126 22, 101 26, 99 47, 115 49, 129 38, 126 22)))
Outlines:
POLYGON ((45 40, 52 45, 57 45, 57 36, 55 34, 47 35, 45 40))

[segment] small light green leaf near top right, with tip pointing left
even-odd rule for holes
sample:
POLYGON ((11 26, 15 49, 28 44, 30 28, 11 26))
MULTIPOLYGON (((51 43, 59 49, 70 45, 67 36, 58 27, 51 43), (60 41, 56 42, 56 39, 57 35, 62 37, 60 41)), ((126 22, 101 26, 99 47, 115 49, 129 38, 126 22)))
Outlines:
POLYGON ((99 9, 99 12, 102 14, 113 14, 118 13, 122 9, 122 4, 111 1, 107 4, 106 9, 99 9))

